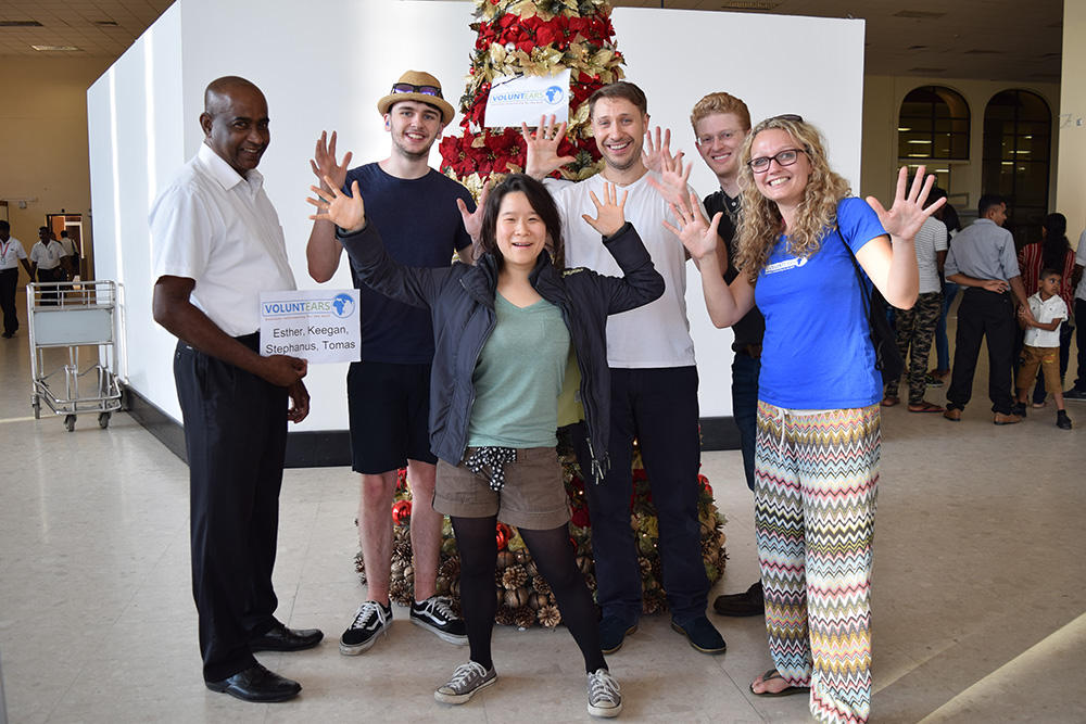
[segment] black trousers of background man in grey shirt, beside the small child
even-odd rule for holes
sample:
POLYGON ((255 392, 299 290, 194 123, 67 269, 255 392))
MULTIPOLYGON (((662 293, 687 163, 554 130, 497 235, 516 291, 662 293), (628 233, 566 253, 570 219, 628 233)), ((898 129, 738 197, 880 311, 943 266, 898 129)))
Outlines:
POLYGON ((954 367, 947 408, 964 409, 973 394, 973 374, 981 341, 988 343, 988 398, 992 411, 1007 415, 1013 403, 1011 366, 1014 360, 1014 304, 1009 293, 970 287, 958 307, 954 367))

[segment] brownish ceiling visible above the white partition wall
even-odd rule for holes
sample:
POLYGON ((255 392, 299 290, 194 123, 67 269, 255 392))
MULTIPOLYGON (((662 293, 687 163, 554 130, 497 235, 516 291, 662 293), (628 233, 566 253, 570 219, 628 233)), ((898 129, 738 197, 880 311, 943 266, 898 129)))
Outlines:
MULTIPOLYGON (((13 21, 41 24, 0 27, 0 56, 116 58, 172 3, 0 0, 0 25, 13 21), (35 45, 79 50, 47 53, 34 50, 35 45)), ((1033 0, 1028 4, 1021 0, 616 0, 614 4, 862 17, 868 23, 868 74, 1060 80, 1063 0, 1033 0)), ((765 42, 772 52, 773 39, 765 42)), ((818 52, 817 37, 810 45, 811 52, 818 52)))

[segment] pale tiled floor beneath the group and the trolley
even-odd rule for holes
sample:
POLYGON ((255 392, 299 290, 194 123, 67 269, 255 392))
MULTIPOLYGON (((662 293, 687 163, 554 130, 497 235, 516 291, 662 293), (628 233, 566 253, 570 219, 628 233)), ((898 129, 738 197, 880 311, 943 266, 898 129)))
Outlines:
MULTIPOLYGON (((189 592, 187 470, 126 415, 35 421, 27 338, 0 344, 0 671, 9 721, 585 721, 580 657, 565 631, 497 630, 500 683, 464 707, 433 688, 466 659, 407 624, 362 657, 336 638, 363 590, 353 572, 356 483, 346 469, 288 470, 276 584, 280 618, 328 640, 260 655, 304 691, 250 704, 203 687, 189 592)), ((978 376, 959 424, 884 415, 875 543, 875 722, 1086 722, 1086 405, 996 428, 978 376)), ((929 398, 943 402, 942 391, 929 398)), ((319 405, 320 401, 314 401, 319 405)), ((729 518, 731 560, 712 595, 755 579, 752 496, 737 453, 704 471, 729 518)), ((666 617, 609 658, 622 721, 807 722, 803 697, 758 699, 759 619, 712 615, 722 657, 695 652, 666 617)), ((2 717, 0 717, 2 721, 2 717)))

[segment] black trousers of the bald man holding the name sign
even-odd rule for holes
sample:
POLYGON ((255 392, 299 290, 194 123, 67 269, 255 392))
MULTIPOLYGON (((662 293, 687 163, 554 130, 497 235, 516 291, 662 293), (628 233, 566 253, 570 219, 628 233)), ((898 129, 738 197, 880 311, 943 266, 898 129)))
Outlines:
MULTIPOLYGON (((256 348, 258 334, 239 338, 256 348)), ((272 586, 287 445, 287 390, 178 343, 174 379, 189 456, 192 596, 204 679, 256 662, 276 624, 272 586)))

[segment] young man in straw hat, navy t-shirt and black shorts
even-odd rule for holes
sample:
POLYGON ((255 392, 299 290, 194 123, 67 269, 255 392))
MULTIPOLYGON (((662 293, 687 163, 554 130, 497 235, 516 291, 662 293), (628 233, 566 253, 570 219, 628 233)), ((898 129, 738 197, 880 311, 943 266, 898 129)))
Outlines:
MULTIPOLYGON (((429 166, 430 149, 453 119, 453 106, 429 73, 408 71, 377 103, 392 148, 383 161, 348 170, 351 153, 336 160, 336 132, 317 141, 311 162, 323 188, 326 177, 350 193, 357 181, 366 216, 389 253, 407 266, 447 267, 453 254, 470 263, 471 194, 429 166), (463 214, 463 218, 462 218, 463 214), (469 228, 465 227, 465 224, 469 228)), ((306 247, 310 276, 331 279, 342 245, 331 221, 314 221, 306 247)), ((390 509, 397 471, 412 487, 414 550, 413 623, 452 644, 467 644, 464 622, 437 592, 442 516, 431 507, 437 458, 430 452, 429 398, 433 329, 430 314, 389 300, 351 270, 361 294, 362 361, 348 373, 352 468, 361 473, 358 539, 366 563, 367 600, 340 638, 340 652, 357 656, 392 622, 389 598, 393 522, 390 509)))

